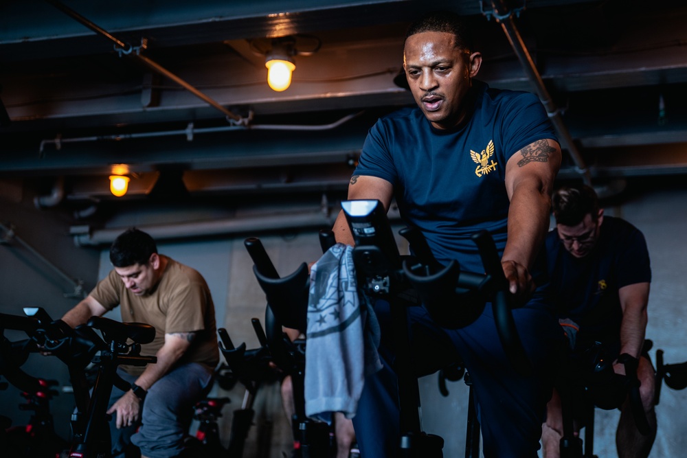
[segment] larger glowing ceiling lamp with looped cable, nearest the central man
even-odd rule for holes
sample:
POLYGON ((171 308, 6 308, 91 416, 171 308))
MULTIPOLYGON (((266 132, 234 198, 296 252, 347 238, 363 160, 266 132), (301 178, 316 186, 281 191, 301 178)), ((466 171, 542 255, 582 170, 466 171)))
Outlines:
POLYGON ((261 51, 258 40, 250 42, 255 54, 265 56, 264 66, 267 67, 267 84, 273 91, 282 92, 291 86, 291 75, 296 69, 295 56, 310 56, 319 50, 322 42, 319 38, 310 35, 282 36, 271 39, 271 49, 261 51), (310 51, 302 51, 296 48, 298 39, 306 39, 313 42, 310 51))

